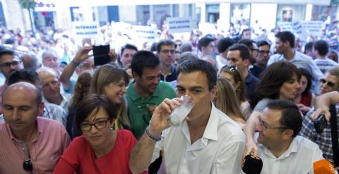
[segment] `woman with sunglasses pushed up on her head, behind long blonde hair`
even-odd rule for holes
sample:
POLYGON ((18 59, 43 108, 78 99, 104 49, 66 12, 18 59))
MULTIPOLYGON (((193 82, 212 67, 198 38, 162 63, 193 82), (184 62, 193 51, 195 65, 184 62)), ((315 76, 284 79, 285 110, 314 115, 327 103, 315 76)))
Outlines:
POLYGON ((219 77, 228 80, 232 84, 237 94, 242 115, 245 119, 249 118, 251 106, 245 97, 245 81, 242 73, 239 72, 236 66, 223 66, 220 70, 219 77))

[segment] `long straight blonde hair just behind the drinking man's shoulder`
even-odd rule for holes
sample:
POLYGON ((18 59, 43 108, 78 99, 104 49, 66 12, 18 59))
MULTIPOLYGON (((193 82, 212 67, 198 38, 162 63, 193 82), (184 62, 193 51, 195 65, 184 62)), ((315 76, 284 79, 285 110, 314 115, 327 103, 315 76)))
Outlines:
POLYGON ((217 107, 233 120, 237 118, 245 120, 237 100, 234 88, 228 80, 218 78, 217 95, 215 99, 215 107, 217 107))

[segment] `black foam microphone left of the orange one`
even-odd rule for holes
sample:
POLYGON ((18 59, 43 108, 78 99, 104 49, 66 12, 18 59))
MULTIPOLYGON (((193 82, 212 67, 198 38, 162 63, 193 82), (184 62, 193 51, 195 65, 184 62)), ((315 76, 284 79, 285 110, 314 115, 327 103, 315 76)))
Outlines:
POLYGON ((246 174, 260 174, 263 169, 263 161, 258 156, 246 155, 242 161, 242 171, 246 174))

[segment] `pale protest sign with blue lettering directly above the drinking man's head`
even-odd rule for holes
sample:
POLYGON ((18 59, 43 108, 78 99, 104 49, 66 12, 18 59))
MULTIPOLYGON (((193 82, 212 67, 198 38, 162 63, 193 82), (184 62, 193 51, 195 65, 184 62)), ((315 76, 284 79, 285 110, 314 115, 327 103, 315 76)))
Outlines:
POLYGON ((166 18, 168 32, 173 34, 176 32, 191 32, 191 18, 166 18))

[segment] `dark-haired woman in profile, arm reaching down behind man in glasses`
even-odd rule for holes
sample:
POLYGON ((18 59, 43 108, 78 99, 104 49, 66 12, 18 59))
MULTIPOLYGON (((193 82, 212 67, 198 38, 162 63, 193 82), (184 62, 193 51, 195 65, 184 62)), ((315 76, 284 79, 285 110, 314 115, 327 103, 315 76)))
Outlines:
POLYGON ((268 102, 273 99, 295 99, 300 87, 300 77, 299 69, 292 63, 285 61, 272 63, 263 71, 261 81, 254 89, 255 98, 251 101, 251 105, 255 106, 254 110, 244 127, 246 154, 254 152, 257 155, 257 147, 253 138, 258 124, 258 116, 261 115, 268 102))

